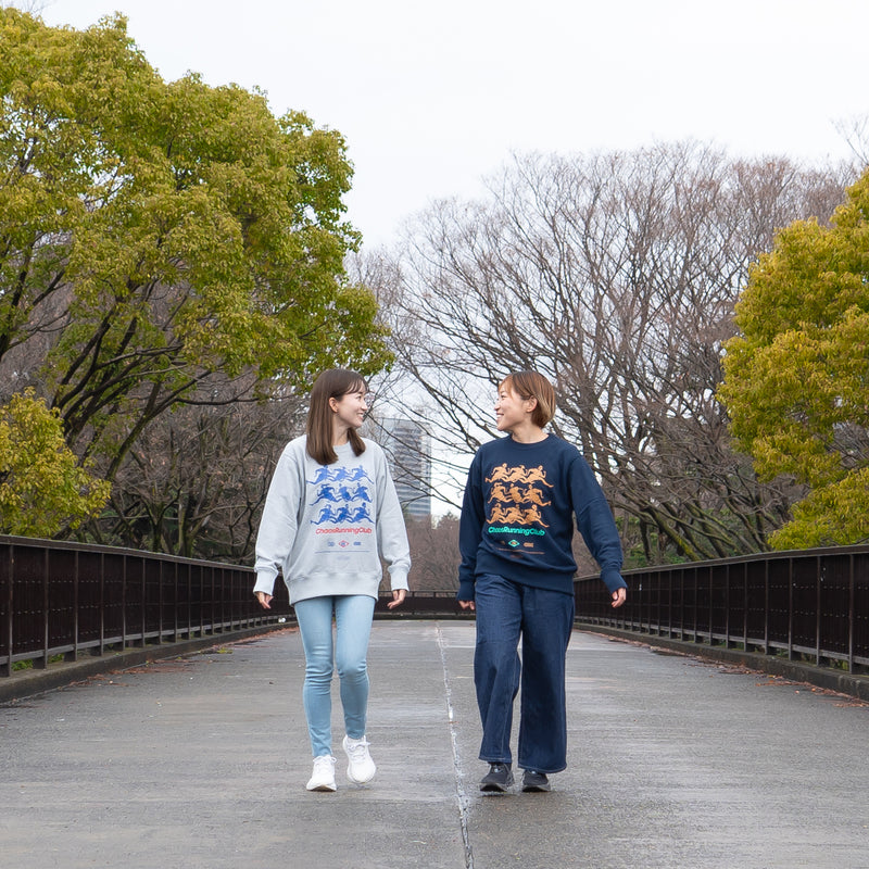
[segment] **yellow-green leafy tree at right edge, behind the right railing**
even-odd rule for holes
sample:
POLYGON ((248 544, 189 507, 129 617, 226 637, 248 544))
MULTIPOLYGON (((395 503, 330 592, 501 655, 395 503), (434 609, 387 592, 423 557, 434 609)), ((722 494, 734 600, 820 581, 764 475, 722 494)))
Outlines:
POLYGON ((770 480, 806 487, 777 549, 869 538, 869 171, 831 225, 796 222, 759 259, 736 307, 720 396, 770 480))

